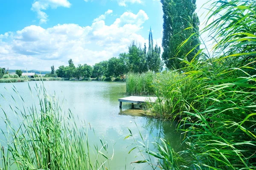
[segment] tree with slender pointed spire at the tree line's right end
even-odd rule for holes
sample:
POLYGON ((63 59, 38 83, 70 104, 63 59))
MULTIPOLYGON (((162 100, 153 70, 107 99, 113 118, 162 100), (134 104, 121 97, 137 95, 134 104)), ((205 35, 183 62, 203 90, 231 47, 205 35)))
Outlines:
MULTIPOLYGON (((161 48, 158 45, 153 47, 153 35, 150 28, 149 36, 148 36, 148 54, 147 54, 147 65, 150 71, 160 72, 163 69, 163 62, 161 61, 160 54, 161 48)), ((144 50, 145 51, 145 50, 144 50)))

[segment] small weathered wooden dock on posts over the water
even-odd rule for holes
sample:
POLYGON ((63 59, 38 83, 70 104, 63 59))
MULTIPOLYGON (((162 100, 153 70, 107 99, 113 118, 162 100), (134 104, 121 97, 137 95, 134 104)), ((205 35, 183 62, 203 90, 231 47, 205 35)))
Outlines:
POLYGON ((141 97, 141 96, 130 96, 130 97, 118 99, 120 108, 122 107, 122 102, 128 102, 131 104, 134 104, 134 103, 141 104, 145 102, 154 103, 156 102, 156 100, 157 100, 157 97, 141 97))

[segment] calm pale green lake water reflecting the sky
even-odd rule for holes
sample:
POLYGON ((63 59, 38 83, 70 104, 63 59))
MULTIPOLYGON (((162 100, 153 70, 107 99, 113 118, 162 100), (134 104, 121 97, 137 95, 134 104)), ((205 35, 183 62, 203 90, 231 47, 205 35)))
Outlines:
MULTIPOLYGON (((33 89, 36 83, 40 82, 0 83, 0 94, 5 98, 0 96, 0 105, 12 122, 15 123, 17 117, 12 113, 9 104, 14 104, 12 96, 18 99, 17 94, 12 90, 13 85, 26 101, 26 105, 30 105, 32 98, 28 84, 33 89)), ((133 140, 130 138, 124 140, 129 133, 127 128, 138 140, 140 140, 138 131, 140 130, 145 141, 154 142, 155 137, 161 137, 168 140, 175 150, 180 148, 180 133, 177 133, 174 124, 142 116, 140 110, 129 110, 131 103, 123 103, 120 110, 118 99, 126 96, 125 83, 49 81, 44 82, 44 86, 49 93, 55 92, 59 99, 66 99, 65 107, 70 108, 79 120, 90 123, 95 131, 95 134, 93 130, 89 131, 91 144, 97 143, 99 138, 104 136, 110 150, 112 147, 114 149, 114 157, 111 161, 111 167, 114 170, 125 169, 125 164, 127 170, 150 169, 146 164, 130 164, 132 161, 140 160, 140 157, 135 158, 139 155, 135 150, 128 154, 132 148, 128 145, 133 143, 133 140)), ((35 93, 34 90, 32 92, 35 93)), ((0 117, 4 117, 3 111, 0 111, 0 117)), ((2 120, 0 128, 6 129, 2 120)), ((2 135, 0 140, 3 140, 2 135)))

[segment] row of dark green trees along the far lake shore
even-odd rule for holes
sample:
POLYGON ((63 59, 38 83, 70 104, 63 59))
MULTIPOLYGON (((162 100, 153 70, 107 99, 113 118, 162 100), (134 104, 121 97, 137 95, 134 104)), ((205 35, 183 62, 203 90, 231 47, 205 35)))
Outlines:
POLYGON ((61 65, 56 71, 54 66, 52 66, 51 73, 45 76, 84 79, 89 77, 119 77, 128 72, 160 72, 163 69, 163 62, 160 58, 161 49, 157 44, 153 46, 151 28, 148 40, 148 51, 146 44, 144 44, 144 48, 142 48, 141 45, 138 45, 134 40, 128 47, 128 53, 121 53, 119 57, 112 57, 109 60, 96 63, 93 66, 79 64, 77 67, 74 65, 73 60, 70 59, 68 66, 61 65))

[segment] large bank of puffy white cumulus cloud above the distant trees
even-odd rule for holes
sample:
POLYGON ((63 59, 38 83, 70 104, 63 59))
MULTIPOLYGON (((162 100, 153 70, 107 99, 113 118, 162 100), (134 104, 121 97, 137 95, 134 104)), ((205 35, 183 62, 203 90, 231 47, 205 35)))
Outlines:
POLYGON ((67 65, 70 58, 76 65, 93 65, 127 52, 132 40, 142 45, 147 42, 138 33, 146 20, 147 14, 140 10, 137 14, 125 12, 111 25, 106 25, 104 20, 85 27, 59 24, 45 29, 32 25, 12 34, 1 34, 5 38, 0 38, 0 65, 49 70, 52 63, 57 67, 67 65))

